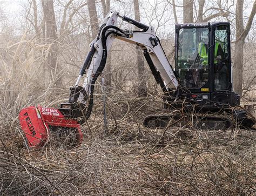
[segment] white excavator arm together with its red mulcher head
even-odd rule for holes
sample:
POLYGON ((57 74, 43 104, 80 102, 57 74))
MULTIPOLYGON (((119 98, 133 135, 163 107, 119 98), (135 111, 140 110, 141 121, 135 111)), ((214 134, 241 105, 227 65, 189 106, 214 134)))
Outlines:
POLYGON ((40 105, 29 106, 19 113, 19 121, 30 147, 39 148, 49 143, 55 144, 55 141, 65 146, 78 146, 82 143, 83 134, 80 125, 90 117, 95 83, 105 67, 107 52, 114 39, 140 46, 154 78, 163 91, 169 93, 172 89, 177 89, 178 80, 153 26, 120 16, 118 12, 110 12, 100 26, 97 37, 90 44, 90 50, 80 69, 76 84, 70 87, 69 102, 60 104, 59 109, 40 105), (142 31, 118 28, 118 18, 137 26, 142 31), (84 83, 79 86, 82 78, 84 83))

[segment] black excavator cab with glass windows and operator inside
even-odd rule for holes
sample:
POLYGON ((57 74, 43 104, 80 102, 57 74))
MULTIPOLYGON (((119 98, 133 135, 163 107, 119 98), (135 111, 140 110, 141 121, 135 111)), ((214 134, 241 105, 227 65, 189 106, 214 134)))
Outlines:
POLYGON ((183 95, 198 105, 237 106, 232 90, 230 23, 177 24, 175 70, 183 95))

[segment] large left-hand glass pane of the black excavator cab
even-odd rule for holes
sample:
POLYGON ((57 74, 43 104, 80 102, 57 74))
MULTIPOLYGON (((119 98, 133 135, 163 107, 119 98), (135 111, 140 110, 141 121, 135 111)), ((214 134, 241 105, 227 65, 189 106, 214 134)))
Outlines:
POLYGON ((180 29, 178 59, 180 84, 199 89, 208 82, 208 29, 180 29))

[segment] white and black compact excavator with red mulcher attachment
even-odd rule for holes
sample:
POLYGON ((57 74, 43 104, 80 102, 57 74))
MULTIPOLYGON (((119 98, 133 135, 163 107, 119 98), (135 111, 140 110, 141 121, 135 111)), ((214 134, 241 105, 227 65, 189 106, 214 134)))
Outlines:
POLYGON ((170 112, 147 116, 144 126, 165 127, 171 118, 180 118, 180 114, 172 111, 174 105, 175 109, 183 107, 185 112, 196 111, 194 117, 200 117, 201 126, 207 129, 228 129, 234 124, 251 128, 255 118, 239 107, 240 96, 232 88, 230 24, 177 24, 175 33, 174 71, 153 26, 121 16, 116 11, 109 12, 90 44, 76 84, 70 87, 69 102, 60 104, 59 109, 30 106, 19 113, 29 146, 43 147, 50 136, 66 145, 77 146, 82 142, 80 125, 92 112, 95 83, 102 74, 114 39, 136 44, 143 50, 152 74, 163 90, 164 106, 170 112), (118 18, 137 26, 140 31, 118 28, 118 18), (84 83, 79 86, 82 78, 84 83), (226 116, 219 114, 220 111, 226 116))

